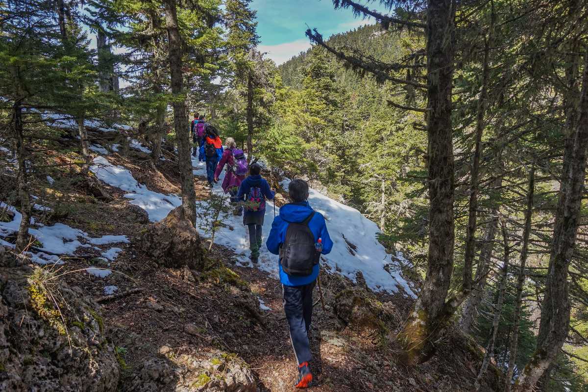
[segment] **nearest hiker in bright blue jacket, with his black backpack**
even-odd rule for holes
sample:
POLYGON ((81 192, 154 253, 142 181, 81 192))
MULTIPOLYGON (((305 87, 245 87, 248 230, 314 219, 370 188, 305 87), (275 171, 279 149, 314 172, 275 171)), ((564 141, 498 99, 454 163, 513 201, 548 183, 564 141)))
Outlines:
POLYGON ((288 187, 292 202, 280 208, 273 220, 266 245, 279 255, 280 282, 284 311, 290 328, 290 340, 298 361, 296 388, 306 388, 312 381, 309 362, 308 331, 312 321, 312 290, 319 276, 320 254, 333 247, 325 218, 308 204, 308 184, 293 180, 288 187))

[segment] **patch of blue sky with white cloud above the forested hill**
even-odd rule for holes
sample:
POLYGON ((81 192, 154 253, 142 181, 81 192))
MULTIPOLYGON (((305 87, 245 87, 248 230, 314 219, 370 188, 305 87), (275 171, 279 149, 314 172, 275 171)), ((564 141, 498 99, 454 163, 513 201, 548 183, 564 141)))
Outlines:
MULTIPOLYGON (((350 9, 335 9, 330 0, 253 0, 251 7, 257 11, 259 50, 268 52, 277 64, 310 47, 304 34, 306 25, 326 38, 374 22, 372 18, 355 18, 350 9)), ((385 12, 377 2, 369 8, 385 12)))

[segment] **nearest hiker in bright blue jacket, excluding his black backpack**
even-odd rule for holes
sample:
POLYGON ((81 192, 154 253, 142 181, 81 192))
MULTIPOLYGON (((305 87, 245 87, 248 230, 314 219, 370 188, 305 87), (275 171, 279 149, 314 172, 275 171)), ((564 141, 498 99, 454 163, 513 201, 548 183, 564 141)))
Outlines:
MULTIPOLYGON (((288 187, 292 202, 280 208, 278 215, 272 223, 272 230, 269 232, 266 245, 273 254, 280 252, 280 246, 286 241, 286 230, 290 222, 304 222, 314 211, 308 203, 308 184, 303 180, 293 180, 288 187)), ((328 254, 333 248, 333 241, 329 237, 325 218, 319 212, 310 218, 308 227, 315 237, 322 240, 322 254, 328 254)), ((294 355, 298 361, 298 383, 297 388, 306 388, 312 381, 309 361, 312 359, 310 353, 310 342, 308 331, 312 321, 312 290, 315 287, 316 278, 319 276, 319 264, 314 265, 312 273, 308 276, 292 276, 283 271, 282 260, 278 260, 280 271, 280 282, 284 300, 284 311, 290 328, 290 340, 294 348, 294 355)))

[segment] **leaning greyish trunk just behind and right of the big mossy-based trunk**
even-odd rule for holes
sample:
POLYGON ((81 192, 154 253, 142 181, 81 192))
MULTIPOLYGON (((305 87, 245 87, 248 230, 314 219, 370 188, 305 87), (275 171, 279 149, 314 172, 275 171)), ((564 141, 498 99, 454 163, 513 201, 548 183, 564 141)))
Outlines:
MULTIPOLYGON (((502 178, 500 179, 502 183, 502 178)), ((486 234, 484 235, 484 243, 482 250, 480 250, 480 257, 476 269, 476 285, 472 289, 472 293, 467 299, 467 303, 463 308, 462 320, 460 325, 464 333, 472 332, 472 325, 478 314, 478 307, 482 303, 484 297, 484 288, 486 287, 487 275, 490 268, 490 261, 492 260, 492 250, 494 249, 494 238, 496 237, 496 227, 498 225, 498 210, 493 208, 490 210, 491 221, 486 225, 486 234)))

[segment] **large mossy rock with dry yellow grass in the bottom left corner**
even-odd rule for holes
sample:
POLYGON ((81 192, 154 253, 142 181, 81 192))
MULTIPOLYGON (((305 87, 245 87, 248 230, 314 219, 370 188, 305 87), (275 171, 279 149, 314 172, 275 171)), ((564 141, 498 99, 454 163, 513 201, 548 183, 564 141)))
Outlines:
POLYGON ((0 391, 114 391, 98 304, 51 268, 10 267, 11 256, 0 249, 0 391))

